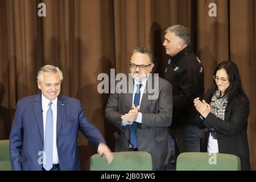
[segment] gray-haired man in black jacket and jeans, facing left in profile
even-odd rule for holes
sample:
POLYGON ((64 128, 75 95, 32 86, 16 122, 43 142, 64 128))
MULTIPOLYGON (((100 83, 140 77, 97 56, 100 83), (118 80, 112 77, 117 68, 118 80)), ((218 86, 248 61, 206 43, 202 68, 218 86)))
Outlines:
POLYGON ((167 28, 163 46, 170 59, 165 67, 164 78, 173 86, 174 100, 172 125, 169 128, 175 159, 171 166, 175 166, 179 153, 200 152, 200 138, 204 134, 196 126, 197 112, 193 108, 193 99, 204 94, 204 70, 189 43, 188 28, 181 25, 167 28))

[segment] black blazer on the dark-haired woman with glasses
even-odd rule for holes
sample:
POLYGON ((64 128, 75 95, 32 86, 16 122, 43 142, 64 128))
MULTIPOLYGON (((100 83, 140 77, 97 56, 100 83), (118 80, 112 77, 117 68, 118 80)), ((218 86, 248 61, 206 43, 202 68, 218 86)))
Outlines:
MULTIPOLYGON (((205 101, 210 103, 214 90, 208 90, 205 101)), ((234 154, 241 159, 241 169, 250 170, 249 145, 247 140, 247 118, 249 116, 249 100, 243 98, 240 102, 231 102, 225 110, 225 121, 209 113, 203 120, 203 126, 217 131, 218 152, 234 154)), ((204 143, 204 151, 207 151, 209 133, 204 143)))

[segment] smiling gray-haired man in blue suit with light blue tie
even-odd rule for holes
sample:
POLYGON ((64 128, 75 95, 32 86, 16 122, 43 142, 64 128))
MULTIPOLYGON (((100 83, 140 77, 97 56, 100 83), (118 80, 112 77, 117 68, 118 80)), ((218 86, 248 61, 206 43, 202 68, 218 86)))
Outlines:
POLYGON ((62 80, 59 68, 45 65, 38 72, 42 93, 18 101, 10 133, 13 170, 79 170, 78 130, 112 162, 112 152, 80 101, 60 95, 62 80))

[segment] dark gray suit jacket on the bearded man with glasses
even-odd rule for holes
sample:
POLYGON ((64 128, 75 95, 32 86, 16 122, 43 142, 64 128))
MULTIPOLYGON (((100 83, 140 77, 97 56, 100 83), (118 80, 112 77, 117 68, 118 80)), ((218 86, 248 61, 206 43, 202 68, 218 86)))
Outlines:
MULTIPOLYGON (((154 85, 154 78, 152 80, 154 85)), ((170 162, 172 155, 168 142, 168 126, 171 125, 172 119, 172 85, 159 77, 157 87, 159 96, 155 100, 148 100, 148 96, 152 94, 143 93, 139 110, 142 113, 142 123, 137 125, 138 150, 151 154, 153 168, 162 167, 170 162)), ((133 92, 119 94, 115 92, 110 94, 106 105, 105 117, 118 127, 118 131, 114 134, 115 151, 129 150, 130 125, 122 126, 121 115, 129 112, 132 102, 133 92)))

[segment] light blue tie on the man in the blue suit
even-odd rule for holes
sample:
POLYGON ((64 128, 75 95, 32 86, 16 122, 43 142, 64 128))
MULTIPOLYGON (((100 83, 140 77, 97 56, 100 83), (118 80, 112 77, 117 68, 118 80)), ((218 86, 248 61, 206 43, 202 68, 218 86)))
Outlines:
POLYGON ((53 113, 52 102, 49 102, 49 109, 46 114, 46 136, 44 137, 44 164, 43 167, 49 171, 52 168, 53 153, 53 113))

